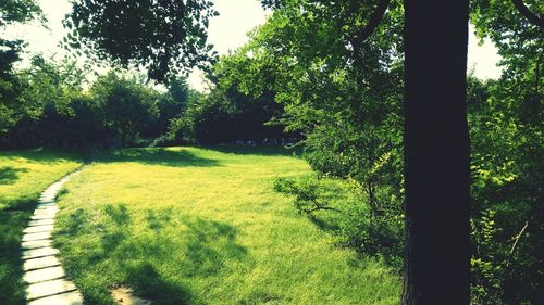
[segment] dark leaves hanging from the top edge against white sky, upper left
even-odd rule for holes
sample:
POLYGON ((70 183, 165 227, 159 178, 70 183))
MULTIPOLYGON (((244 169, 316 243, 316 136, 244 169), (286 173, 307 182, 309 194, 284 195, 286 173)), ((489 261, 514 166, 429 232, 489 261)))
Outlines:
POLYGON ((72 0, 64 21, 71 30, 66 48, 109 63, 143 66, 148 77, 164 81, 212 59, 207 45, 211 1, 72 0))

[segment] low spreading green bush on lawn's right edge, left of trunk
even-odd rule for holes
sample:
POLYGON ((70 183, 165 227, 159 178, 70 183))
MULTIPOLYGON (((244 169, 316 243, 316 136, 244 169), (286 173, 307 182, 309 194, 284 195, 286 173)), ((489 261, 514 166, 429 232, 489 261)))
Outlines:
POLYGON ((332 229, 343 245, 401 268, 404 218, 391 214, 376 216, 358 188, 341 179, 280 178, 274 181, 274 190, 294 196, 298 213, 321 228, 332 229), (317 212, 322 213, 317 215, 317 212))

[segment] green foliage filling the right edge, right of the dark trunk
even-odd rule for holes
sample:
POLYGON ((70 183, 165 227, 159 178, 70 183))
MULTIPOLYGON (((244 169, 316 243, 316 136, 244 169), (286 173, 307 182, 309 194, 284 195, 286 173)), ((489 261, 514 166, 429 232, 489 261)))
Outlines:
MULTIPOLYGON (((526 2, 532 12, 544 10, 526 2)), ((473 236, 482 241, 475 243, 473 292, 482 304, 537 304, 544 297, 542 28, 511 1, 471 5, 477 34, 495 42, 504 68, 484 86, 489 98, 469 105, 473 236)))

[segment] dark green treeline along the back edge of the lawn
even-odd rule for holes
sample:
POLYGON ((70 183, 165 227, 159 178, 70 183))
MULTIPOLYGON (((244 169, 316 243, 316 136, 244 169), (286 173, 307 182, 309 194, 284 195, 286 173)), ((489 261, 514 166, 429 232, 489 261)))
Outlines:
POLYGON ((75 63, 41 56, 14 75, 17 91, 4 111, 2 149, 285 141, 280 126, 264 125, 281 113, 273 97, 252 99, 235 84, 221 81, 202 94, 173 78, 166 90, 157 90, 141 76, 119 71, 86 84, 86 72, 75 63))

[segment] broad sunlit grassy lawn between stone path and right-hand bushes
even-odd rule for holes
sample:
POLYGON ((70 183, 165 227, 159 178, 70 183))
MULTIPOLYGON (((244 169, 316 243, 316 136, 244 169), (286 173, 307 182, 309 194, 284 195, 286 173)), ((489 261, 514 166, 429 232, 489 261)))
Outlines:
POLYGON ((89 304, 397 304, 400 280, 273 191, 309 175, 277 149, 112 151, 65 185, 54 239, 89 304))

